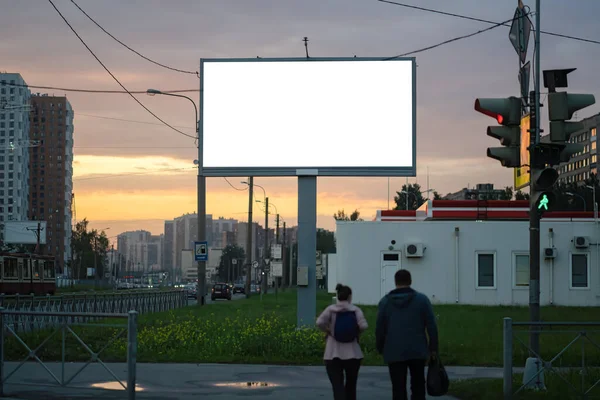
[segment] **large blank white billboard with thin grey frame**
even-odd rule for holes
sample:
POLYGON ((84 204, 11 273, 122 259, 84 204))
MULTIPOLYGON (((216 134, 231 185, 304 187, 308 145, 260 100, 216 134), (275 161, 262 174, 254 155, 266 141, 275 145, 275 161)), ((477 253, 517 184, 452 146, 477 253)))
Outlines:
POLYGON ((410 176, 415 60, 203 59, 207 176, 410 176))

